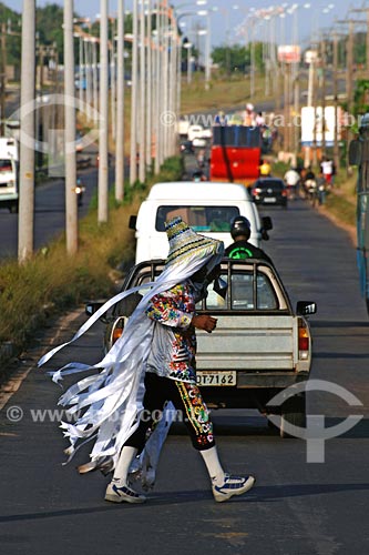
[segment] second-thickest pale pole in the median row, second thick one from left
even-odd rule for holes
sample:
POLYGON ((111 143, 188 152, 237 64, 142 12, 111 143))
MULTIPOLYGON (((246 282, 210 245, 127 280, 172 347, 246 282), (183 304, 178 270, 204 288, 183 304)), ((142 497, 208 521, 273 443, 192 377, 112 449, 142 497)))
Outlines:
POLYGON ((65 236, 68 254, 78 251, 79 216, 75 194, 75 87, 74 87, 74 0, 64 0, 64 118, 65 118, 65 236))

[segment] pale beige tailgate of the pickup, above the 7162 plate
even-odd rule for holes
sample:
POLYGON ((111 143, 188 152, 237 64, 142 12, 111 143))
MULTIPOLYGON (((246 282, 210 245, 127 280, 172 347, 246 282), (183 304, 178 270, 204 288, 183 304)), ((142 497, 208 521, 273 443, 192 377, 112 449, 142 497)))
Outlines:
POLYGON ((198 370, 294 371, 296 319, 217 315, 213 333, 197 331, 198 370))

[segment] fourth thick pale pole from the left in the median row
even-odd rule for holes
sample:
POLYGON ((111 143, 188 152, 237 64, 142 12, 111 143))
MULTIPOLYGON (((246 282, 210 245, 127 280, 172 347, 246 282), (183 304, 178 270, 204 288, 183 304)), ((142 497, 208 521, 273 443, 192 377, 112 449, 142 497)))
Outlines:
POLYGON ((124 199, 124 0, 117 1, 115 199, 124 199))

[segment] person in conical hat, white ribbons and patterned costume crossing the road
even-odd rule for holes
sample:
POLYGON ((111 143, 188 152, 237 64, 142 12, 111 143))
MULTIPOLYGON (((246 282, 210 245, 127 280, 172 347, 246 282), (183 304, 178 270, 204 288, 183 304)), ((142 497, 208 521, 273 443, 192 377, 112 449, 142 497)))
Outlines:
MULTIPOLYGON (((181 218, 166 224, 166 233, 170 253, 165 268, 154 283, 146 284, 148 293, 106 356, 94 366, 71 363, 54 373, 57 381, 63 373, 92 367, 100 370, 98 375, 81 380, 61 397, 62 405, 71 406, 69 414, 85 411, 74 424, 62 423, 62 427, 70 438, 70 456, 73 456, 78 443, 95 438, 91 462, 85 466, 88 470, 106 470, 107 466, 113 470, 106 501, 143 503, 146 497, 133 490, 130 472, 140 453, 141 461, 145 460, 145 450, 155 432, 161 431, 160 423, 146 442, 146 433, 154 423, 153 415, 163 408, 165 413, 166 402, 172 402, 182 412, 192 444, 205 462, 215 501, 224 502, 247 492, 255 483, 253 476, 233 476, 223 470, 209 412, 196 386, 195 329, 212 333, 216 329, 216 319, 196 314, 195 304, 206 296, 207 285, 219 275, 224 244, 195 233, 181 218)), ((112 304, 137 289, 115 295, 105 303, 72 341, 112 304)), ((62 346, 65 344, 44 355, 39 365, 62 346)), ((152 464, 158 460, 166 433, 167 428, 162 441, 156 442, 152 464)), ((145 464, 151 466, 147 460, 145 464)))

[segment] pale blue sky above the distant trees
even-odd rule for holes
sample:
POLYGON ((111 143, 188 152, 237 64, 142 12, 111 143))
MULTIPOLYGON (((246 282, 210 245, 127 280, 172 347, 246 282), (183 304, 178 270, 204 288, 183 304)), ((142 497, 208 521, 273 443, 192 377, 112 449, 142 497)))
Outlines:
MULTIPOLYGON (((183 1, 172 0, 170 3, 178 9, 178 12, 187 12, 186 16, 181 18, 181 23, 184 23, 184 32, 195 34, 196 29, 206 28, 206 17, 189 16, 188 11, 195 12, 197 10, 212 10, 211 14, 211 38, 212 46, 221 46, 225 43, 244 43, 249 40, 250 26, 242 26, 245 21, 247 13, 253 9, 266 9, 271 7, 273 0, 203 0, 207 6, 196 6, 196 0, 183 1), (181 7, 181 9, 180 9, 181 7), (215 11, 217 10, 217 11, 215 11)), ((2 0, 2 2, 16 11, 21 12, 23 0, 2 0)), ((38 7, 44 7, 48 3, 59 3, 63 6, 63 0, 37 0, 38 7)), ((132 0, 125 0, 125 9, 132 9, 132 0)), ((365 0, 295 0, 280 3, 275 3, 275 8, 284 7, 285 11, 289 10, 293 6, 298 6, 295 14, 286 13, 285 18, 276 17, 274 19, 275 31, 273 31, 271 23, 268 20, 260 19, 258 13, 258 27, 255 27, 255 37, 263 38, 264 36, 273 37, 276 33, 277 42, 284 44, 294 43, 294 39, 303 46, 311 34, 317 34, 320 29, 326 31, 331 28, 335 20, 348 19, 349 10, 352 8, 362 8, 368 3, 365 0), (260 23, 263 22, 263 23, 260 23)), ((100 0, 74 0, 74 11, 81 17, 90 17, 92 20, 96 18, 100 12, 100 0)), ((112 16, 116 14, 117 1, 109 0, 109 11, 112 16)), ((365 13, 351 13, 353 19, 362 19, 365 21, 365 13)), ((249 21, 249 20, 248 20, 249 21)), ((341 26, 341 30, 347 32, 348 26, 341 26)))

